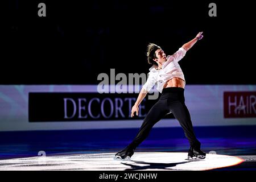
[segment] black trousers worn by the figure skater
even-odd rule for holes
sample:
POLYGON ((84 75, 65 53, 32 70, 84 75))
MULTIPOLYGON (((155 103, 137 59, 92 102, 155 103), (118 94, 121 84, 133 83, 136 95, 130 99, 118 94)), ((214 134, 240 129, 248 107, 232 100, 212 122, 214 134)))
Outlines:
POLYGON ((196 139, 193 131, 191 117, 187 106, 185 105, 184 89, 177 87, 164 88, 159 101, 150 109, 141 129, 133 142, 129 144, 129 148, 136 148, 144 139, 147 138, 150 130, 164 115, 172 112, 174 117, 179 121, 184 130, 185 137, 189 140, 192 147, 200 148, 201 143, 196 139))

